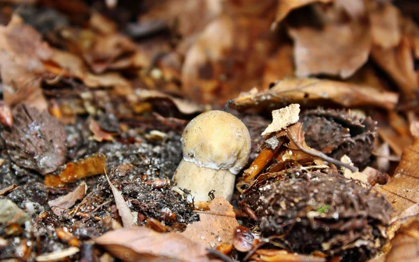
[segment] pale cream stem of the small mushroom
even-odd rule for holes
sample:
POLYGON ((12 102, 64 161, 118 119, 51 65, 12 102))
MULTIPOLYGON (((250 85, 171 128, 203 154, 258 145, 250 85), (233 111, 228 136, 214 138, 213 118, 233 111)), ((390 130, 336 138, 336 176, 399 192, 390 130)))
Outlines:
POLYGON ((199 167, 196 163, 182 159, 177 167, 174 177, 177 187, 188 189, 191 194, 187 200, 211 201, 210 191, 214 190, 214 196, 222 196, 230 201, 233 196, 235 175, 226 169, 213 169, 199 167))

